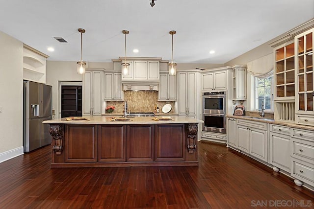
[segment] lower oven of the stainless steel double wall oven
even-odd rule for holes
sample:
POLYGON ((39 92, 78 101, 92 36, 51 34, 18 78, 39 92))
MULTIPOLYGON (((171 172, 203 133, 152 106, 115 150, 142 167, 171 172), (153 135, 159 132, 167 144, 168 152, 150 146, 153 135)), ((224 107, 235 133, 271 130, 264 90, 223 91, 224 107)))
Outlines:
POLYGON ((221 133, 221 134, 226 134, 227 129, 226 129, 226 115, 221 115, 221 114, 203 114, 203 131, 208 131, 208 132, 214 132, 214 133, 221 133), (210 126, 209 124, 206 123, 207 119, 206 117, 212 117, 212 118, 220 118, 221 120, 219 123, 216 123, 215 125, 210 126), (214 127, 213 127, 214 126, 214 127))

